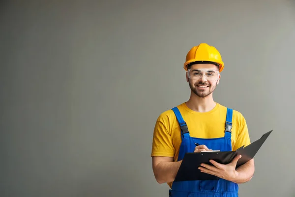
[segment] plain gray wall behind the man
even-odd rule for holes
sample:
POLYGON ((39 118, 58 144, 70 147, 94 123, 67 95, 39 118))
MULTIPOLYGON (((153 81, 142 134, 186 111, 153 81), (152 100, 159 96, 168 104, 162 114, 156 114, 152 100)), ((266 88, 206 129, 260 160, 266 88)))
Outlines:
POLYGON ((215 101, 251 140, 274 130, 240 197, 295 197, 294 0, 1 1, 1 197, 164 197, 158 115, 189 98, 183 63, 225 62, 215 101))

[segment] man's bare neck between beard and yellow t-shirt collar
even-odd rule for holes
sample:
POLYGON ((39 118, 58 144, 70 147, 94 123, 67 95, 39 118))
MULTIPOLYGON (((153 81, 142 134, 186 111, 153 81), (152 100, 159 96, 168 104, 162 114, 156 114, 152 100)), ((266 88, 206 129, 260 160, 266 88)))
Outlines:
POLYGON ((213 100, 212 94, 208 95, 205 98, 201 98, 194 93, 191 93, 191 96, 186 102, 186 105, 193 111, 208 112, 216 106, 216 102, 213 100))

